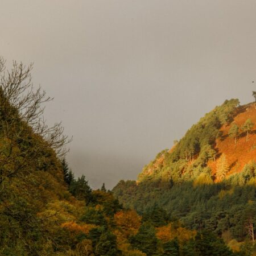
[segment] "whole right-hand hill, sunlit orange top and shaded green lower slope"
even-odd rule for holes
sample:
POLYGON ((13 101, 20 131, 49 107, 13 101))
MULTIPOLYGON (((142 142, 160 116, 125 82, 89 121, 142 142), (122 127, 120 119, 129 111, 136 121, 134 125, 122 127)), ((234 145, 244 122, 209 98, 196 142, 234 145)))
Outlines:
POLYGON ((237 249, 254 245, 255 124, 255 102, 226 100, 160 152, 137 181, 119 181, 115 197, 141 214, 157 206, 185 228, 211 230, 237 249))

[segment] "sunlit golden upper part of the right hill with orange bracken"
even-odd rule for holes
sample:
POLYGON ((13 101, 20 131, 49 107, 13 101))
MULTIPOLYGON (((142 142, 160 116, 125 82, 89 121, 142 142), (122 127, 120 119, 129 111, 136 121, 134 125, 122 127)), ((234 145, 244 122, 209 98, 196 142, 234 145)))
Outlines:
POLYGON ((200 119, 171 148, 143 168, 144 180, 189 181, 208 175, 218 182, 256 160, 256 104, 225 101, 200 119))

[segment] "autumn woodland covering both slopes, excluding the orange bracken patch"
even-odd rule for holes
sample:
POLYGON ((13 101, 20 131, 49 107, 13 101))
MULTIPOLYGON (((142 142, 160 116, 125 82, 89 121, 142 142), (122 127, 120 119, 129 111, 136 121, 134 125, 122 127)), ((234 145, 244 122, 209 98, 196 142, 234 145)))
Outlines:
MULTIPOLYGON (((237 100, 161 152, 139 183, 93 191, 65 160, 61 123, 44 120, 51 98, 33 88, 31 68, 6 71, 0 59, 0 255, 253 255, 256 165, 226 179, 231 169, 214 149, 237 100), (210 161, 220 162, 216 174, 210 161)), ((252 122, 237 134, 247 144, 252 122)))

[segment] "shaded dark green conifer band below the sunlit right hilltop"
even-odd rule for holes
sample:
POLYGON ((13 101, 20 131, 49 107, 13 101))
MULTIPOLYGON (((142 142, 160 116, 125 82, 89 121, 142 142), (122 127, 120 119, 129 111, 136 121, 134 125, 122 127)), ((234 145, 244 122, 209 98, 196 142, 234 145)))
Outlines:
MULTIPOLYGON (((201 174, 209 175, 209 172, 205 170, 201 174)), ((230 230, 232 238, 243 241, 247 237, 246 214, 255 207, 256 186, 251 184, 255 176, 256 164, 252 162, 240 174, 220 183, 199 181, 195 185, 193 181, 183 181, 170 187, 169 183, 159 181, 143 181, 138 185, 121 181, 113 193, 125 207, 144 214, 143 220, 150 221, 150 209, 157 205, 166 210, 168 220, 179 219, 185 228, 207 229, 218 236, 230 230)))

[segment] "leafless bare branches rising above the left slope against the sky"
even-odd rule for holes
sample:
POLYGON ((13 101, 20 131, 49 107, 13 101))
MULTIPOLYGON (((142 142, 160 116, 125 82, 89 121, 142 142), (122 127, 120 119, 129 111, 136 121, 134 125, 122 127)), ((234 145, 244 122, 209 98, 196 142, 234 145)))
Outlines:
POLYGON ((42 136, 52 147, 58 156, 67 153, 65 145, 71 141, 67 135, 63 134, 63 126, 55 123, 49 127, 43 118, 44 104, 53 100, 47 97, 42 88, 34 89, 31 81, 32 64, 13 62, 10 71, 5 71, 5 60, 0 57, 0 89, 2 93, 2 108, 5 112, 10 111, 10 106, 18 112, 18 118, 30 125, 34 133, 42 136), (7 109, 6 109, 7 108, 7 109))

